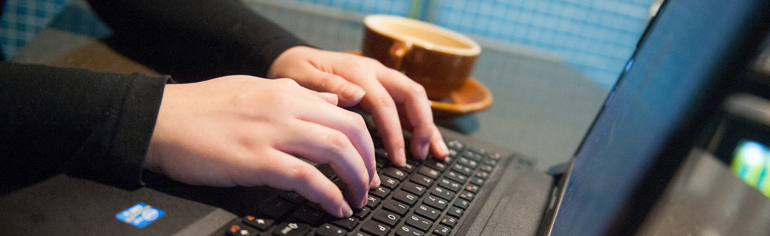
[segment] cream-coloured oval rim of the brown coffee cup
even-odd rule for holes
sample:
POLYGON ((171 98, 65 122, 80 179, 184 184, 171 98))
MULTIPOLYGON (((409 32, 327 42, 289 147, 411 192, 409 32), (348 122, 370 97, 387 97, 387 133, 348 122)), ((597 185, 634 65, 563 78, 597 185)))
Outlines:
POLYGON ((387 35, 390 38, 398 39, 403 42, 407 42, 407 43, 411 42, 413 45, 420 46, 429 50, 447 52, 447 53, 457 54, 460 56, 477 56, 481 52, 481 47, 474 39, 470 39, 466 35, 460 34, 459 32, 454 32, 450 29, 446 29, 439 25, 434 25, 429 22, 423 22, 416 19, 409 19, 398 15, 367 15, 363 19, 363 25, 366 25, 367 28, 373 30, 374 32, 380 33, 382 35, 387 35), (387 32, 387 30, 385 29, 381 29, 380 27, 378 27, 377 22, 383 22, 383 21, 392 21, 398 24, 419 25, 420 27, 427 27, 433 30, 434 32, 448 35, 453 39, 458 39, 459 41, 467 43, 470 47, 444 46, 444 45, 435 44, 433 42, 428 42, 427 40, 423 40, 423 39, 403 37, 402 35, 395 35, 393 33, 387 32))

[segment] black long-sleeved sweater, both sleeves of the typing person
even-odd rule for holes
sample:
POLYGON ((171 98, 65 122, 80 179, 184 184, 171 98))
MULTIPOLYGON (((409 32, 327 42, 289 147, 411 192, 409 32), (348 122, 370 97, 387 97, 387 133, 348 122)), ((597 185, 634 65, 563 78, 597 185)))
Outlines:
MULTIPOLYGON (((305 45, 236 0, 90 3, 129 56, 182 82, 265 76, 305 45)), ((170 78, 0 63, 0 193, 61 173, 141 186, 170 78)))

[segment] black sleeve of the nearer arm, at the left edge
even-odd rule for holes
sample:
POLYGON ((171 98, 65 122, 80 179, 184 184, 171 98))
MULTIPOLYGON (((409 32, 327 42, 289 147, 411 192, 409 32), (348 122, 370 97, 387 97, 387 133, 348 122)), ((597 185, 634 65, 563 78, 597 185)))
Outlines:
POLYGON ((167 80, 0 62, 0 190, 61 173, 141 186, 167 80))

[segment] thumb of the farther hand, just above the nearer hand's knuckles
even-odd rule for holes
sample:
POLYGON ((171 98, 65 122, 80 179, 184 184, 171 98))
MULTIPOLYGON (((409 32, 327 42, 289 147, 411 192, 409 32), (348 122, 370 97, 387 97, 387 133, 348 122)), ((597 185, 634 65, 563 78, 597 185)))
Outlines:
POLYGON ((303 84, 309 89, 313 89, 319 92, 334 93, 340 96, 340 106, 354 106, 358 104, 366 95, 364 89, 357 86, 354 83, 350 83, 343 77, 323 72, 316 67, 308 66, 308 68, 302 70, 300 74, 296 76, 302 76, 303 81, 310 82, 309 84, 303 84))

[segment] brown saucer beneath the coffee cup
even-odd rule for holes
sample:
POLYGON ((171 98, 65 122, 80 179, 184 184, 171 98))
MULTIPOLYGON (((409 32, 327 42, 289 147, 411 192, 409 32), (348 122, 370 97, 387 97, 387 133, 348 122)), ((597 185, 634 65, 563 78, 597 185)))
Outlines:
POLYGON ((460 89, 441 101, 430 101, 434 118, 465 116, 484 110, 492 104, 492 93, 480 81, 469 77, 460 89))

